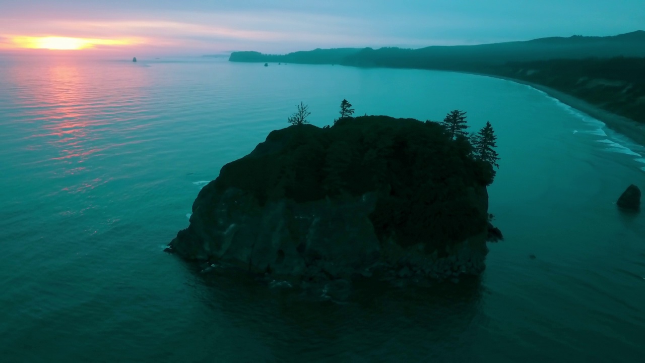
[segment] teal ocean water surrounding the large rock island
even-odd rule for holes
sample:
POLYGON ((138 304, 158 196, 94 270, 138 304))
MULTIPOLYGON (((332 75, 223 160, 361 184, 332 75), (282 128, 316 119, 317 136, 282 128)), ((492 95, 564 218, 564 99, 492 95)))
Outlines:
POLYGON ((615 201, 645 187, 645 148, 501 79, 262 66, 0 58, 0 361, 642 362, 645 215, 615 201), (491 121, 506 240, 481 277, 332 302, 163 253, 224 163, 343 98, 491 121))

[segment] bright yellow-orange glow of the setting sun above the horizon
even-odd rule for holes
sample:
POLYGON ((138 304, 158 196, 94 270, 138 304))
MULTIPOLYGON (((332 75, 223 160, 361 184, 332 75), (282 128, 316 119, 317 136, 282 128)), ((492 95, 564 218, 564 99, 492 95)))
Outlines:
POLYGON ((95 48, 98 45, 131 45, 128 39, 87 39, 74 37, 14 37, 12 39, 20 48, 50 50, 81 50, 95 48))

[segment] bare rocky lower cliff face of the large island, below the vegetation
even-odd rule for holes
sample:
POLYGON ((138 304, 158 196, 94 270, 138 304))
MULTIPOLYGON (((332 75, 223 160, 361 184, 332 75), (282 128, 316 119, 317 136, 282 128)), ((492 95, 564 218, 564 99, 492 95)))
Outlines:
MULTIPOLYGON (((213 197, 208 194, 201 198, 213 197)), ((486 213, 486 188, 475 198, 486 213)), ((440 279, 477 275, 485 268, 488 227, 443 251, 427 251, 423 243, 403 247, 396 236, 381 242, 370 220, 377 199, 373 192, 342 201, 285 199, 261 207, 249 194, 230 188, 215 199, 197 203, 190 227, 170 243, 172 251, 191 260, 224 261, 276 278, 304 280, 388 271, 440 279)))

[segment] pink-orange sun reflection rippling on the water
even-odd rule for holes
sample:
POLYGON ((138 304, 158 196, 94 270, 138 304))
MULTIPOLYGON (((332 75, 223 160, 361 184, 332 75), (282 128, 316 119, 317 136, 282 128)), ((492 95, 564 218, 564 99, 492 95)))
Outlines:
POLYGON ((99 61, 56 59, 43 61, 35 74, 12 76, 18 84, 41 85, 18 95, 28 115, 25 121, 34 125, 26 149, 41 155, 39 163, 54 166, 55 177, 68 178, 64 192, 109 182, 104 160, 136 142, 127 139, 129 129, 147 125, 141 101, 147 89, 144 68, 123 63, 120 72, 107 74, 102 66, 99 61))

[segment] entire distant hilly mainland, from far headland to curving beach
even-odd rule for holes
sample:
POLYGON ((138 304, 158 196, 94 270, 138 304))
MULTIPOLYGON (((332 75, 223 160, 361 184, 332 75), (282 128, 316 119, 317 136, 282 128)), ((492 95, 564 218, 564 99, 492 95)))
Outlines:
POLYGON ((607 37, 547 37, 419 49, 334 48, 284 55, 233 52, 229 60, 447 70, 510 79, 540 88, 645 145, 643 30, 607 37))

